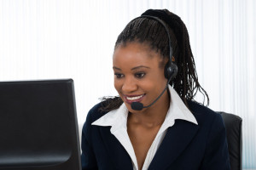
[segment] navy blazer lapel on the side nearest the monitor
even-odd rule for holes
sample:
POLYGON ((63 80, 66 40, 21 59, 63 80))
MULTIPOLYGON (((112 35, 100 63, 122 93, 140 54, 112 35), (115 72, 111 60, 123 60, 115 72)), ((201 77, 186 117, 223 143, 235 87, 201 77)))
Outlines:
MULTIPOLYGON (((116 169, 132 170, 131 157, 119 140, 110 133, 110 127, 101 127, 102 141, 108 151, 108 156, 116 169)), ((108 158, 106 158, 108 159, 108 158)))

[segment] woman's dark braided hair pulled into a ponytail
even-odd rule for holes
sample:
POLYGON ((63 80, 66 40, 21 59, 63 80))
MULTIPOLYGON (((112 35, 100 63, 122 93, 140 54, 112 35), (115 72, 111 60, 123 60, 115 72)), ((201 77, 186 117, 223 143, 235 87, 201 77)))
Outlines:
MULTIPOLYGON (((198 82, 195 70, 195 60, 190 48, 189 33, 183 21, 176 14, 172 14, 167 9, 149 9, 143 15, 153 15, 160 19, 167 20, 167 26, 172 40, 172 55, 177 65, 177 76, 170 82, 177 94, 183 99, 185 105, 188 106, 188 100, 194 100, 195 94, 200 91, 201 94, 207 96, 207 105, 209 105, 209 97, 207 92, 201 88, 198 82), (162 18, 162 16, 164 18, 162 18)), ((119 34, 114 49, 119 46, 125 47, 129 42, 139 42, 147 44, 148 47, 160 53, 162 58, 169 59, 169 40, 164 27, 159 21, 148 18, 137 18, 131 20, 125 29, 119 34)), ((165 59, 163 59, 165 60, 165 59)), ((160 64, 163 66, 163 64, 160 64)), ((120 97, 102 98, 102 111, 112 111, 119 108, 123 101, 120 97)), ((203 101, 204 104, 204 101, 203 101)))

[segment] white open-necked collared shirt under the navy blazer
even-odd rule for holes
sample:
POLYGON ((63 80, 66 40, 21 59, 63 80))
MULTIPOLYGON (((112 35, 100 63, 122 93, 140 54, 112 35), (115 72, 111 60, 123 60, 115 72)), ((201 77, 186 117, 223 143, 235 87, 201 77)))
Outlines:
MULTIPOLYGON (((161 125, 159 132, 157 133, 153 143, 148 150, 148 154, 143 164, 143 170, 148 169, 151 161, 154 158, 156 150, 158 150, 162 140, 166 135, 167 128, 172 127, 176 119, 183 119, 188 122, 193 122, 197 125, 195 116, 193 116, 187 106, 183 104, 183 100, 180 99, 177 92, 170 85, 168 88, 171 96, 170 107, 167 111, 165 121, 161 125)), ((110 132, 115 136, 116 139, 119 140, 120 144, 124 146, 125 150, 131 157, 133 170, 138 170, 137 158, 127 133, 128 112, 129 111, 127 110, 125 104, 123 104, 119 107, 119 109, 109 111, 106 115, 102 116, 91 124, 102 127, 111 126, 110 132)))

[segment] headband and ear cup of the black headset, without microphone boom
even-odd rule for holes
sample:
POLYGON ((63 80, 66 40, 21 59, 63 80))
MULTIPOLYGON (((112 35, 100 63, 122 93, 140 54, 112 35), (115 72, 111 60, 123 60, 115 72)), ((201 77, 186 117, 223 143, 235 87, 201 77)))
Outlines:
POLYGON ((168 36, 168 41, 169 41, 169 48, 170 48, 170 54, 169 54, 170 59, 165 66, 165 77, 168 80, 168 82, 170 82, 172 80, 172 78, 176 77, 176 75, 177 75, 177 65, 175 65, 172 62, 172 39, 170 36, 170 32, 168 30, 168 27, 166 26, 166 23, 163 20, 160 20, 159 18, 154 17, 154 16, 141 15, 141 16, 135 18, 134 20, 137 20, 139 18, 148 18, 148 19, 157 20, 162 26, 164 26, 164 28, 166 30, 166 33, 168 36))

